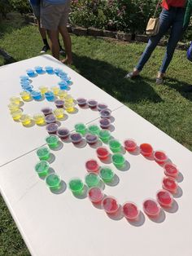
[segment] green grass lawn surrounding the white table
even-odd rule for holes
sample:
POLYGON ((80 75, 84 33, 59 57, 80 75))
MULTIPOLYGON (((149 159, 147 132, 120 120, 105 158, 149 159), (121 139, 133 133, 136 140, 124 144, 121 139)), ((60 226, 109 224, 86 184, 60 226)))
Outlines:
MULTIPOLYGON (((37 28, 24 24, 15 15, 14 19, 16 26, 13 19, 0 24, 0 46, 15 61, 39 55, 42 45, 37 28)), ((192 150, 192 94, 184 92, 185 86, 192 84, 192 63, 186 60, 185 51, 176 51, 166 82, 158 86, 155 75, 165 50, 158 47, 142 77, 125 80, 124 75, 137 64, 145 46, 72 36, 72 68, 192 150)), ((28 255, 2 198, 0 214, 0 255, 28 255)))

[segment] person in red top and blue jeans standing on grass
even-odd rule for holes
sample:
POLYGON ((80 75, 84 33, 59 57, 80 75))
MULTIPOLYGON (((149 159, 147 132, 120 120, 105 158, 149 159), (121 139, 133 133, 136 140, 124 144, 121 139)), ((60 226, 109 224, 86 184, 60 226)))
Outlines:
MULTIPOLYGON (((190 2, 191 0, 188 1, 190 2)), ((151 57, 151 54, 155 50, 155 47, 158 45, 160 39, 164 36, 165 33, 168 32, 168 29, 171 29, 170 37, 168 39, 167 50, 164 55, 164 60, 156 77, 157 84, 161 84, 164 82, 164 76, 168 68, 168 65, 172 60, 172 55, 176 49, 177 42, 179 42, 184 30, 187 28, 187 25, 189 24, 189 20, 188 24, 185 24, 185 6, 188 1, 162 1, 161 6, 163 10, 159 16, 159 33, 149 38, 149 42, 146 46, 145 51, 142 54, 141 59, 138 61, 137 66, 133 68, 133 72, 128 73, 125 76, 125 78, 133 78, 139 75, 147 60, 149 60, 149 58, 151 57)))

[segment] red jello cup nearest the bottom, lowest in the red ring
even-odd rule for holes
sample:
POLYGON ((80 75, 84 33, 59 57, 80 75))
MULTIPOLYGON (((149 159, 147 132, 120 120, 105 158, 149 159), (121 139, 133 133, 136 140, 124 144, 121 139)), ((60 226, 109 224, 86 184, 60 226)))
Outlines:
POLYGON ((125 202, 122 206, 124 217, 127 218, 129 221, 137 221, 139 217, 140 211, 133 202, 125 202))

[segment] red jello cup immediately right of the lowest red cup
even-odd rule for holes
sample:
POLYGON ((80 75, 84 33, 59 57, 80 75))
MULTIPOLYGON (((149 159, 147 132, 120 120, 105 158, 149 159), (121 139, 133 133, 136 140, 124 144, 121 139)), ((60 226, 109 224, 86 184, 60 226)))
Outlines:
POLYGON ((150 218, 158 218, 160 214, 160 206, 154 199, 146 199, 142 203, 143 210, 150 218))

